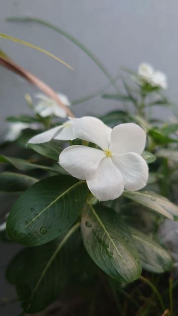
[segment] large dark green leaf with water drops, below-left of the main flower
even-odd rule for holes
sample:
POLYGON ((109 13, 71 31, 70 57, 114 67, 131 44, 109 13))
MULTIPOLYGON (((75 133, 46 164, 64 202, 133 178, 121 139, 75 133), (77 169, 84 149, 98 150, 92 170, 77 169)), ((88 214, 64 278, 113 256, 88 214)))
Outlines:
POLYGON ((27 246, 58 237, 75 222, 87 196, 86 183, 70 176, 37 182, 12 207, 7 221, 9 237, 27 246))

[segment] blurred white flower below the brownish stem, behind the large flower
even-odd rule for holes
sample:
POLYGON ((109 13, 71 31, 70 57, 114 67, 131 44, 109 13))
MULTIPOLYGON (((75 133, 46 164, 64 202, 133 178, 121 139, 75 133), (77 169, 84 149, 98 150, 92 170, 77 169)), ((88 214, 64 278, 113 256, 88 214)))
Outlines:
MULTIPOLYGON (((62 93, 58 93, 58 96, 60 100, 65 104, 65 106, 70 106, 71 103, 68 99, 68 97, 62 93)), ((52 98, 48 97, 45 94, 38 93, 36 94, 36 97, 40 99, 40 101, 35 106, 35 111, 38 113, 41 117, 45 118, 50 115, 55 115, 60 118, 66 118, 67 113, 65 109, 60 107, 60 105, 53 100, 52 98)))

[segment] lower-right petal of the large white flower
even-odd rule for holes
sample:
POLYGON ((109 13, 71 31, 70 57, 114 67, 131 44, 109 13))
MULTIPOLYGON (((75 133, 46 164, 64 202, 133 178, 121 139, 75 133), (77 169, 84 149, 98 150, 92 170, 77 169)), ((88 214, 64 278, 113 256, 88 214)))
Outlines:
POLYGON ((114 166, 120 170, 124 187, 127 190, 137 191, 142 189, 148 180, 148 166, 138 153, 113 154, 111 156, 114 166))

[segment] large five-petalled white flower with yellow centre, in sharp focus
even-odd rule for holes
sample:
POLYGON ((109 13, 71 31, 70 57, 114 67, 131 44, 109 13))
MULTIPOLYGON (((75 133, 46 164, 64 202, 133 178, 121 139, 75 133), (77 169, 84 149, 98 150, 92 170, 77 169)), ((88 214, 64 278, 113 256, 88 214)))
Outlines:
POLYGON ((136 124, 113 129, 94 117, 71 119, 77 138, 97 144, 101 149, 73 145, 64 149, 59 164, 73 177, 86 180, 88 188, 100 200, 115 199, 127 190, 143 188, 148 166, 140 155, 146 134, 136 124))

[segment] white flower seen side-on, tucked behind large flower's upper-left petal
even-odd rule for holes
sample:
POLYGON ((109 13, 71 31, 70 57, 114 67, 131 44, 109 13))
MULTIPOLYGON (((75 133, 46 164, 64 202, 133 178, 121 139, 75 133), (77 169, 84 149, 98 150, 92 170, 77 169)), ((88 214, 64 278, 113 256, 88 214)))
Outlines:
POLYGON ((57 140, 73 140, 75 139, 75 135, 73 134, 73 122, 71 120, 65 122, 62 125, 51 128, 50 130, 35 135, 30 138, 28 143, 30 144, 41 144, 46 143, 52 139, 57 140))

